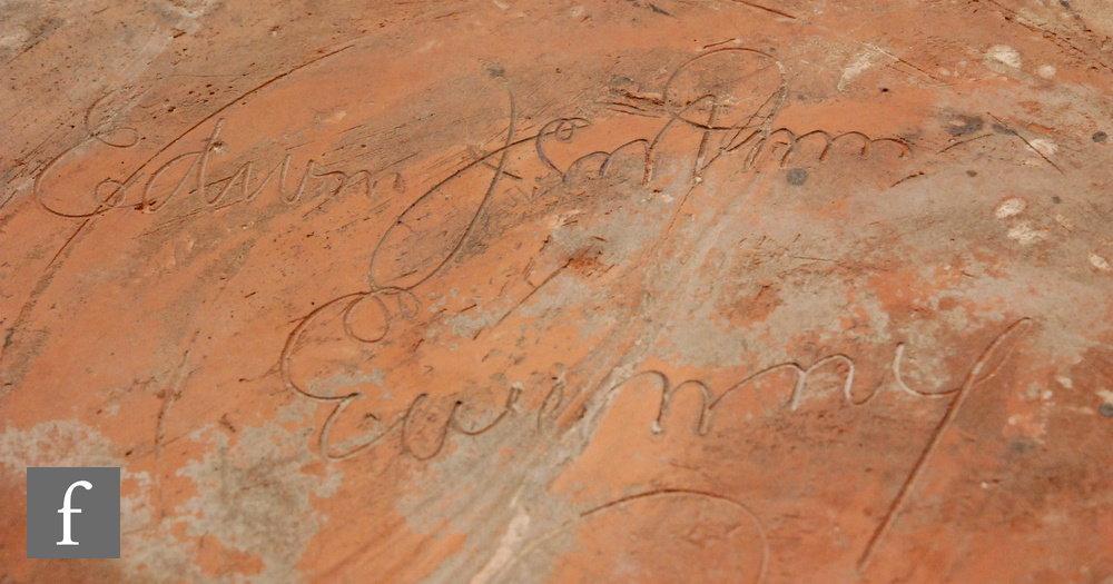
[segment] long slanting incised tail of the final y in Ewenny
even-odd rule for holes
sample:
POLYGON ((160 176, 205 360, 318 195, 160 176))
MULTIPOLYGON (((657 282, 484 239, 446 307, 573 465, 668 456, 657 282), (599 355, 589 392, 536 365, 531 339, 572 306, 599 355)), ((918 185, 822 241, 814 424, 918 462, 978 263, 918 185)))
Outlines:
MULTIPOLYGON (((966 375, 966 380, 963 382, 963 385, 962 387, 959 387, 957 395, 955 396, 954 399, 951 400, 951 404, 947 405, 947 413, 943 416, 943 418, 939 420, 939 424, 935 427, 935 432, 932 434, 930 442, 928 442, 927 447, 925 447, 924 451, 920 453, 919 458, 916 461, 916 464, 912 468, 912 473, 908 474, 908 478, 905 479, 904 485, 900 486, 900 491, 897 492, 896 498, 893 499, 893 504, 889 505, 888 511, 886 511, 885 517, 881 519, 881 523, 877 526, 877 529, 874 531, 873 535, 870 535, 869 542, 866 544, 866 550, 861 553, 861 556, 858 558, 859 573, 865 572, 865 570, 869 566, 869 561, 873 560, 874 551, 877 550, 877 545, 885 538, 885 535, 893 526, 893 523, 895 522, 897 515, 899 515, 900 512, 904 511, 904 506, 908 499, 908 495, 915 489, 916 483, 919 481, 920 476, 923 476, 924 471, 930 463, 932 457, 935 455, 935 452, 939 447, 939 444, 943 443, 943 437, 946 435, 947 429, 951 427, 952 423, 958 416, 958 410, 962 409, 963 404, 966 402, 966 398, 969 397, 971 390, 974 389, 975 385, 995 375, 1001 369, 1001 366, 998 365, 998 367, 986 373, 985 375, 982 375, 983 373, 982 369, 986 367, 986 364, 993 357, 993 354, 1005 343, 1005 340, 1009 336, 1013 335, 1013 333, 1015 333, 1021 327, 1027 326, 1031 323, 1032 319, 1028 317, 1024 317, 1021 318, 1020 320, 1016 320, 1015 323, 1009 325, 1008 328, 1006 328, 999 335, 997 335, 997 337, 994 338, 992 343, 989 343, 989 346, 986 347, 984 352, 982 352, 982 355, 974 364, 974 367, 972 367, 969 374, 966 375)), ((1008 355, 1011 353, 1012 353, 1012 347, 1009 347, 1008 350, 1006 350, 1005 354, 1002 356, 1001 358, 1002 364, 1004 364, 1005 359, 1008 358, 1008 355)))

